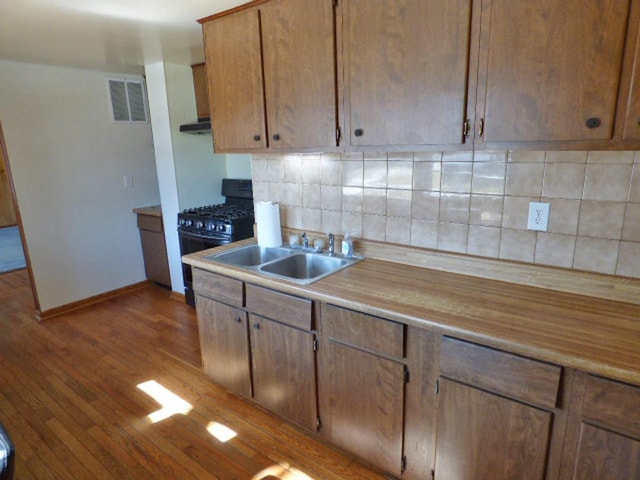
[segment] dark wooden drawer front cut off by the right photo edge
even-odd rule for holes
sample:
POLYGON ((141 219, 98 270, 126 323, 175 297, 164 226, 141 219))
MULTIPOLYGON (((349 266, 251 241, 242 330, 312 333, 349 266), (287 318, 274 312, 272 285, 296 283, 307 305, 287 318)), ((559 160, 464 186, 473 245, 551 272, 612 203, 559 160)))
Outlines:
POLYGON ((640 435, 640 388, 589 376, 582 412, 585 417, 640 435))

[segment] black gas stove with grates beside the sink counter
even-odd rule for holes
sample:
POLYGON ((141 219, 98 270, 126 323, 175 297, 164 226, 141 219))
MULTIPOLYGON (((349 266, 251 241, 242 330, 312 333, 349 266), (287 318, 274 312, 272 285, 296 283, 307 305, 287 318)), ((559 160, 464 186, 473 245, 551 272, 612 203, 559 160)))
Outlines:
MULTIPOLYGON (((253 237, 253 188, 251 180, 222 180, 224 203, 188 208, 178 213, 180 255, 253 237)), ((184 294, 195 304, 191 266, 182 264, 184 294)))

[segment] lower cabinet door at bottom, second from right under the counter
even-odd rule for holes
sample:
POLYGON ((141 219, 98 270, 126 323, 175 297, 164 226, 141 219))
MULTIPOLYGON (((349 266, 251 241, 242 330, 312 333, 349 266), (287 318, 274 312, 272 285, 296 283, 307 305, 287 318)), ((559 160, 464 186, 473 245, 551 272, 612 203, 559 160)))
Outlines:
POLYGON ((542 480, 552 413, 439 380, 436 480, 542 480))

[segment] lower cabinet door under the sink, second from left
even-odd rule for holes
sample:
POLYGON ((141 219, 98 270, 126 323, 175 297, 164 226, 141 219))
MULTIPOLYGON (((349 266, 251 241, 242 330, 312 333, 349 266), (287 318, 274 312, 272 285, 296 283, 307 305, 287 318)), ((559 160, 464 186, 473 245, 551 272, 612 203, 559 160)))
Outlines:
POLYGON ((250 315, 256 401, 309 429, 316 429, 314 335, 250 315))

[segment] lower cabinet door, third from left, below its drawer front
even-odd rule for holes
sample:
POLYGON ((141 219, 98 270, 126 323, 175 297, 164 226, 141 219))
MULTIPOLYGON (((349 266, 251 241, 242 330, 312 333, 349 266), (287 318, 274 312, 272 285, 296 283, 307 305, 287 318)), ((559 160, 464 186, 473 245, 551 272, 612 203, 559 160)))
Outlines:
MULTIPOLYGON (((329 342, 319 388, 328 396, 322 428, 329 440, 394 475, 402 473, 404 366, 329 342)), ((321 348, 321 349, 322 349, 321 348)))

